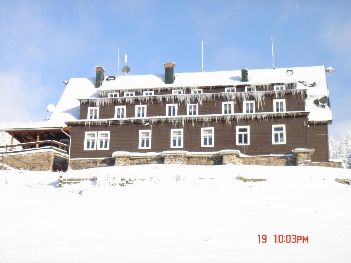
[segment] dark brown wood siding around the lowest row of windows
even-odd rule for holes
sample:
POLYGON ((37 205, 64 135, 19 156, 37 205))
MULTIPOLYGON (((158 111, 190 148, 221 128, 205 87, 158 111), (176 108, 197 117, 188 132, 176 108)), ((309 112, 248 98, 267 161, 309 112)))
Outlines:
MULTIPOLYGON (((249 155, 261 154, 290 154, 292 149, 307 148, 307 122, 306 116, 286 119, 268 119, 266 121, 243 121, 239 126, 250 126, 250 145, 236 145, 237 123, 226 121, 213 121, 209 123, 197 122, 183 125, 171 123, 155 123, 150 126, 142 126, 140 123, 71 126, 72 136, 71 158, 108 157, 114 151, 130 152, 161 152, 165 150, 187 151, 219 151, 223 149, 238 149, 249 155), (272 144, 272 124, 286 125, 286 144, 272 144), (214 127, 214 147, 201 148, 201 128, 214 127), (170 131, 173 128, 184 128, 184 148, 170 148, 170 131), (139 130, 151 129, 151 149, 138 149, 139 130), (110 149, 84 151, 85 131, 108 131, 110 130, 110 149)), ((317 151, 317 150, 316 150, 317 151)))

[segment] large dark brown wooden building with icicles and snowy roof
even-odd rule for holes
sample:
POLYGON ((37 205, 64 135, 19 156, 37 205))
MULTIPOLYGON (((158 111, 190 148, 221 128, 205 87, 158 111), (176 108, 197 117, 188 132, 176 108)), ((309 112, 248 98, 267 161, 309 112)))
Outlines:
MULTIPOLYGON (((118 157, 225 150, 290 156, 314 149, 312 162, 329 161, 324 66, 178 74, 175 63, 164 68, 159 75, 105 76, 99 66, 95 78, 72 78, 36 132, 65 140, 75 169, 114 165, 118 157)), ((26 142, 15 126, 1 130, 26 142)))

